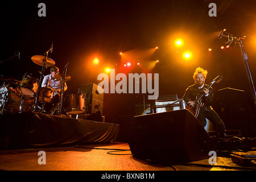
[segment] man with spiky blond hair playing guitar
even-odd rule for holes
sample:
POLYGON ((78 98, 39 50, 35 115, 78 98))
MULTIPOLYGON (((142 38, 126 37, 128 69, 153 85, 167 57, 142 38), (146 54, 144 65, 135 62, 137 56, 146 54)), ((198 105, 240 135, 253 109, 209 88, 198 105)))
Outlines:
POLYGON ((195 84, 188 86, 188 88, 185 90, 183 100, 186 102, 187 107, 190 106, 192 108, 198 109, 199 113, 197 115, 197 119, 204 127, 207 124, 207 121, 205 119, 207 118, 209 119, 209 121, 217 126, 217 129, 220 133, 219 137, 224 138, 225 125, 211 106, 213 101, 213 89, 212 87, 207 89, 208 85, 205 84, 205 78, 207 77, 207 73, 208 71, 203 68, 196 68, 196 71, 193 75, 195 84), (199 103, 196 104, 196 98, 202 93, 203 97, 201 97, 199 103))

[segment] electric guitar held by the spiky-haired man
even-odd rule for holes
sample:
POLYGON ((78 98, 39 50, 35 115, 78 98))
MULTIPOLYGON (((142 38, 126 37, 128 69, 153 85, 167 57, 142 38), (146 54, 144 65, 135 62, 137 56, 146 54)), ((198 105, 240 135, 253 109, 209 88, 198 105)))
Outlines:
MULTIPOLYGON (((210 84, 207 86, 207 89, 209 89, 214 83, 216 83, 216 82, 219 83, 221 81, 221 79, 222 79, 221 75, 219 75, 216 78, 214 78, 213 81, 210 82, 210 84)), ((201 98, 203 96, 204 96, 204 92, 201 92, 199 94, 199 96, 196 96, 196 100, 194 101, 195 102, 195 106, 189 106, 189 105, 186 106, 186 109, 191 111, 191 113, 193 115, 195 115, 195 117, 198 116, 200 108, 204 106, 204 103, 201 102, 201 98)))

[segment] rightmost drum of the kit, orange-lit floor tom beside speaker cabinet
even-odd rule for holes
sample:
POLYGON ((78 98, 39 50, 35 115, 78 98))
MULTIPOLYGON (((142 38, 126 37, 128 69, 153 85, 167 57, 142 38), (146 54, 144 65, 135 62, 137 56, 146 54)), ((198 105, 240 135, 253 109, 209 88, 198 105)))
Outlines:
POLYGON ((82 114, 85 112, 85 94, 69 94, 66 99, 68 114, 82 114))

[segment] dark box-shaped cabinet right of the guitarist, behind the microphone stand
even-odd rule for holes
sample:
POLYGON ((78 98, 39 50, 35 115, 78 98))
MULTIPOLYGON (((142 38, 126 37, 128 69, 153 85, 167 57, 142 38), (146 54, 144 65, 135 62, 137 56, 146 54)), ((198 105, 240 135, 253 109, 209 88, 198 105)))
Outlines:
POLYGON ((243 90, 224 88, 218 90, 220 96, 220 117, 226 130, 253 130, 255 128, 249 105, 243 90))

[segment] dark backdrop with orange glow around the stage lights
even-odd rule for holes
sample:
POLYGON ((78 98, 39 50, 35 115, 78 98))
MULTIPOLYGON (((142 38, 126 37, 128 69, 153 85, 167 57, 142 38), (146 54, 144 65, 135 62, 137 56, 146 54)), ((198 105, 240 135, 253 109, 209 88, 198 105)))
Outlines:
MULTIPOLYGON (((253 80, 256 80, 256 2, 255 1, 5 1, 1 2, 1 53, 0 61, 20 52, 20 59, 4 61, 0 75, 22 80, 24 73, 40 78, 42 67, 31 57, 49 53, 60 71, 69 62, 67 82, 69 93, 76 94, 79 85, 98 84, 105 67, 115 73, 159 73, 159 96, 177 94, 181 98, 197 67, 208 70, 206 82, 217 75, 222 81, 213 86, 213 107, 220 111, 218 89, 245 90, 246 101, 253 107, 241 49, 234 43, 228 49, 228 39, 217 39, 226 28, 233 35, 246 35, 244 48, 249 58, 253 80), (38 16, 38 4, 46 4, 46 17, 38 16), (209 3, 217 5, 217 16, 210 17, 209 3), (176 48, 174 41, 183 38, 184 46, 176 48), (155 47, 159 47, 152 51, 155 47), (209 52, 208 48, 213 51, 209 52), (191 60, 185 61, 182 53, 190 50, 191 60), (123 69, 119 52, 135 53, 129 59, 133 66, 123 69), (98 57, 100 64, 92 64, 98 57), (142 61, 136 67, 138 60, 142 61), (159 63, 149 69, 146 63, 159 63)), ((44 75, 49 74, 49 68, 44 75)), ((118 81, 116 81, 117 83, 118 81)), ((106 122, 118 115, 134 115, 135 105, 143 104, 147 94, 104 94, 106 122)))

